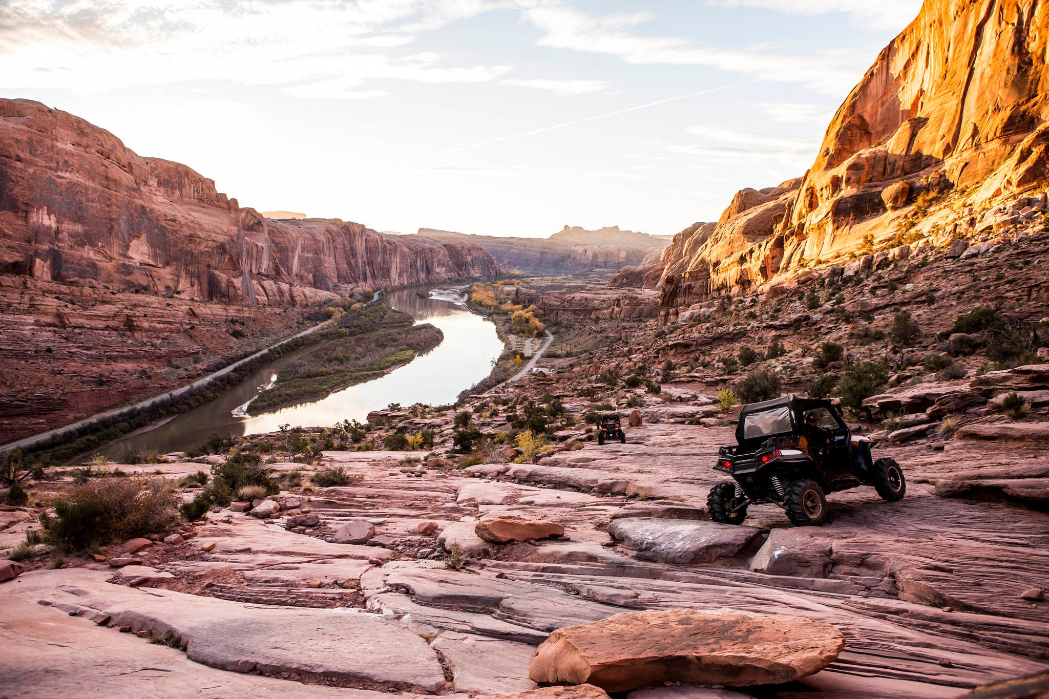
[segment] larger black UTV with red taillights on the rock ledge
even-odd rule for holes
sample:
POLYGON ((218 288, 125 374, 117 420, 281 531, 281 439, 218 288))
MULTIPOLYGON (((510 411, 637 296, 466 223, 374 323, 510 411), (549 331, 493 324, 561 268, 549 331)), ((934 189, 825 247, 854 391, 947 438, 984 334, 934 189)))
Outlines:
POLYGON ((871 441, 854 437, 830 400, 793 395, 744 407, 734 446, 722 446, 715 471, 734 481, 707 497, 710 519, 741 524, 747 506, 771 502, 797 525, 827 518, 828 493, 873 485, 882 498, 900 500, 903 471, 893 459, 871 457, 871 441))

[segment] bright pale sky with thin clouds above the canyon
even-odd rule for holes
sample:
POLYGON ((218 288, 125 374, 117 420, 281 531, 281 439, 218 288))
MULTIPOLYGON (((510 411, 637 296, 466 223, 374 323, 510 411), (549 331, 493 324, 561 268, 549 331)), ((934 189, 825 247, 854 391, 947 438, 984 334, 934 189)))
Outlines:
POLYGON ((0 96, 241 206, 668 235, 805 173, 920 0, 0 0, 0 96))

